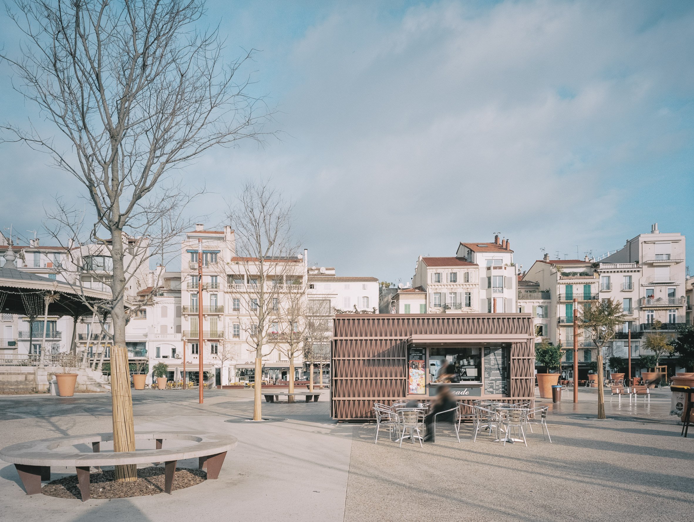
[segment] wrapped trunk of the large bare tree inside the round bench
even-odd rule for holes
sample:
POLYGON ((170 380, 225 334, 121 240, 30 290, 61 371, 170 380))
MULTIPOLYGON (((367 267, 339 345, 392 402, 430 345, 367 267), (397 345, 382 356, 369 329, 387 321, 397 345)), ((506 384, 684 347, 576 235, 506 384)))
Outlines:
MULTIPOLYGON (((117 210, 115 215, 118 215, 117 210)), ((125 285, 126 274, 123 259, 123 233, 114 228, 111 233, 114 297, 111 320, 113 323, 113 347, 111 349, 111 397, 113 404, 113 451, 135 451, 135 421, 133 397, 130 395, 130 369, 126 348, 125 285)), ((135 482, 137 466, 126 464, 116 467, 116 482, 135 482)))

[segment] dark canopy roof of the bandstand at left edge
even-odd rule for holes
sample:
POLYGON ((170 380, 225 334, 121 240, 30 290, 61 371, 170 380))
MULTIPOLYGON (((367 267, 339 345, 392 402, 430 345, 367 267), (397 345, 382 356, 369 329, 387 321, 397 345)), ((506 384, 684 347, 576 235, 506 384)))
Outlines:
MULTIPOLYGON (((62 317, 80 317, 92 314, 92 306, 108 303, 110 292, 83 287, 74 287, 65 281, 37 276, 17 269, 12 248, 5 254, 5 265, 0 267, 0 312, 4 314, 31 314, 31 303, 40 303, 40 314, 44 312, 44 296, 53 295, 48 314, 62 317)), ((37 314, 34 314, 37 315, 37 314)))

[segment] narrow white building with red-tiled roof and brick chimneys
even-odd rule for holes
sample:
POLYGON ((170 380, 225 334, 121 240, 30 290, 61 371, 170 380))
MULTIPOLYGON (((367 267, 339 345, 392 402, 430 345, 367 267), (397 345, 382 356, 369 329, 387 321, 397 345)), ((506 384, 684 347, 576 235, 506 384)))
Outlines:
POLYGON ((493 243, 461 242, 456 257, 480 267, 479 296, 474 308, 489 313, 516 311, 518 267, 508 239, 495 235, 493 243))

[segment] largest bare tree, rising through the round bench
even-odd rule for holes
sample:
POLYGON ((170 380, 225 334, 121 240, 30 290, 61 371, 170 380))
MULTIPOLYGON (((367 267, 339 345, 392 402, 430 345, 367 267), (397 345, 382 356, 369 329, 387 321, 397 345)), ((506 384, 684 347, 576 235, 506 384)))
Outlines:
MULTIPOLYGON (((113 264, 106 308, 113 323, 114 450, 135 451, 125 345, 129 237, 146 235, 185 204, 178 184, 167 186, 171 169, 212 146, 259 139, 266 113, 256 115, 248 81, 235 81, 248 56, 223 64, 217 32, 196 29, 203 0, 15 0, 15 6, 10 17, 27 42, 19 58, 1 56, 60 139, 33 125, 3 128, 10 140, 48 153, 92 203, 90 239, 108 249, 113 264)), ((135 465, 116 466, 116 476, 137 480, 135 465)))

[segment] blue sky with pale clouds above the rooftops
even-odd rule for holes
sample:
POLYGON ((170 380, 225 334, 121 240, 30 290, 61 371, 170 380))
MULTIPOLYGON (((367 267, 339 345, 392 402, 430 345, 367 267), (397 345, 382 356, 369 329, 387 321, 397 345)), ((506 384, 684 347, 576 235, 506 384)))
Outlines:
MULTIPOLYGON (((209 228, 245 180, 269 178, 310 264, 393 283, 418 255, 495 233, 523 269, 655 222, 694 237, 694 3, 208 1, 201 23, 219 24, 229 60, 257 49, 239 74, 278 133, 180 174, 208 190, 191 212, 209 228)), ((10 74, 0 64, 0 121, 40 124, 10 74)), ((81 191, 16 144, 0 144, 0 183, 0 226, 25 237, 81 191)))

